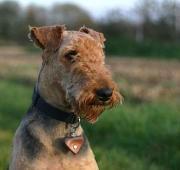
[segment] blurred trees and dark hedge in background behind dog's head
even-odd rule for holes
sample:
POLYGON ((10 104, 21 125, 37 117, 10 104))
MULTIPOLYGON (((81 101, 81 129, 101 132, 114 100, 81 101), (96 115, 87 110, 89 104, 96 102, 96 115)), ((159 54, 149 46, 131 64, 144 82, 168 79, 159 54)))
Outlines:
POLYGON ((179 9, 177 1, 140 0, 133 10, 127 12, 117 7, 95 19, 85 9, 70 3, 44 8, 3 1, 0 42, 28 45, 28 25, 66 24, 68 29, 76 30, 86 25, 105 34, 108 54, 178 58, 179 9))

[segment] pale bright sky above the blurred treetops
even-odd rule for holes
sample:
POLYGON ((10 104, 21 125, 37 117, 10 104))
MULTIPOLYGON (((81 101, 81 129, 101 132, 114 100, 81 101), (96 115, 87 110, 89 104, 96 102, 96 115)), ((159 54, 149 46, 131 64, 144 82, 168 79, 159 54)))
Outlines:
MULTIPOLYGON (((4 1, 4 0, 0 0, 4 1)), ((100 18, 105 12, 113 8, 121 8, 128 10, 133 8, 135 2, 138 0, 14 0, 21 5, 27 6, 29 4, 36 4, 40 6, 50 7, 54 3, 74 3, 77 4, 93 16, 100 18)))

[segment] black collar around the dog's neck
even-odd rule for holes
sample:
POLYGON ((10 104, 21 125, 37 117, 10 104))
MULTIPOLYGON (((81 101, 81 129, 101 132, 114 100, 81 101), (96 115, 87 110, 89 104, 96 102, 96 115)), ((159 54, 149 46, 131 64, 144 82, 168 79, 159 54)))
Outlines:
POLYGON ((37 90, 34 90, 33 93, 32 108, 37 109, 40 114, 65 123, 74 124, 79 121, 78 116, 76 116, 73 112, 66 112, 48 104, 39 95, 37 90))

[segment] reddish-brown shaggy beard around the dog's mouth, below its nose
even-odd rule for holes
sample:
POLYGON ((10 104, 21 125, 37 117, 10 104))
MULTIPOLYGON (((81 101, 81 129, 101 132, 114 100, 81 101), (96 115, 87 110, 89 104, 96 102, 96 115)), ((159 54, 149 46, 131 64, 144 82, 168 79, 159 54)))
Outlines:
POLYGON ((99 101, 93 94, 82 95, 77 101, 74 101, 73 107, 75 114, 85 118, 90 123, 95 123, 98 117, 105 109, 110 109, 121 101, 118 92, 114 92, 108 102, 99 101))

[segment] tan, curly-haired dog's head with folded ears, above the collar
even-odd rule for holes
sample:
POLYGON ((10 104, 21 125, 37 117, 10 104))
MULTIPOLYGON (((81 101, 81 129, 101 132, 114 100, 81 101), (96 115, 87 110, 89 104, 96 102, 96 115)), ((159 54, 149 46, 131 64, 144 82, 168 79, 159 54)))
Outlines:
POLYGON ((105 65, 102 33, 86 27, 31 27, 30 37, 43 49, 39 90, 47 101, 69 107, 89 122, 122 101, 105 65))

